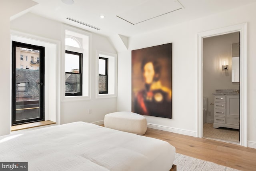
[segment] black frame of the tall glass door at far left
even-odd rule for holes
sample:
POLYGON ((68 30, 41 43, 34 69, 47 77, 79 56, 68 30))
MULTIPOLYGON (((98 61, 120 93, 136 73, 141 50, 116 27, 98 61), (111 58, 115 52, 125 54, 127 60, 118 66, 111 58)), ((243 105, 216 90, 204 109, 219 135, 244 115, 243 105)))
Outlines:
MULTIPOLYGON (((32 123, 38 121, 44 121, 44 58, 45 58, 45 48, 43 46, 36 46, 32 44, 25 44, 21 42, 12 41, 12 126, 20 125, 25 123, 32 123), (38 85, 40 86, 40 97, 39 97, 39 110, 40 116, 38 118, 32 119, 24 119, 16 121, 16 47, 20 48, 28 48, 40 51, 40 73, 39 73, 39 82, 38 85)), ((26 83, 27 86, 27 83, 26 83)), ((27 90, 27 88, 26 88, 27 90)))

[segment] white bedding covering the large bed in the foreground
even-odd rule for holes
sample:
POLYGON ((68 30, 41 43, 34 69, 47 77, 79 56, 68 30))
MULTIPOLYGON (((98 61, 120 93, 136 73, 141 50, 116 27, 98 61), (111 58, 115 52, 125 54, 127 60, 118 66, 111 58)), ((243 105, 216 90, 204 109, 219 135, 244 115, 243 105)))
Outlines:
POLYGON ((0 137, 0 162, 28 171, 169 171, 174 155, 166 141, 85 122, 0 137))

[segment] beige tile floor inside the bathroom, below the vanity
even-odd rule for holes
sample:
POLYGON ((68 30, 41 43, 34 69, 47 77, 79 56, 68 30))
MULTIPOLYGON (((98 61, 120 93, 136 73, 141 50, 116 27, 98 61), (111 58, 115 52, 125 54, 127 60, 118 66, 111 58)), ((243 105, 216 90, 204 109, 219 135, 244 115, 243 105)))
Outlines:
POLYGON ((228 143, 240 144, 238 129, 224 127, 214 128, 212 123, 204 123, 203 137, 228 143))

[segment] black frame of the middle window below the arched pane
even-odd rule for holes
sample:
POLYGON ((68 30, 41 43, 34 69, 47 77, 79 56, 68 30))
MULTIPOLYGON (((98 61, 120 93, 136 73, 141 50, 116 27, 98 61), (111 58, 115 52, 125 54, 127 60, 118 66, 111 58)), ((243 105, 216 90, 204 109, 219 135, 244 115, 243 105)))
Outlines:
MULTIPOLYGON (((82 85, 83 85, 83 74, 82 74, 82 64, 83 64, 83 54, 82 53, 79 53, 79 52, 73 52, 73 51, 69 51, 69 50, 66 50, 65 54, 72 54, 72 55, 77 55, 79 56, 79 73, 74 73, 74 72, 65 72, 65 76, 66 74, 79 74, 80 75, 80 92, 77 92, 77 93, 73 93, 73 92, 66 92, 66 88, 65 88, 65 96, 82 96, 83 95, 83 92, 82 92, 82 85)), ((66 58, 65 58, 65 61, 66 61, 66 58)), ((66 86, 66 81, 65 81, 65 86, 66 86)))

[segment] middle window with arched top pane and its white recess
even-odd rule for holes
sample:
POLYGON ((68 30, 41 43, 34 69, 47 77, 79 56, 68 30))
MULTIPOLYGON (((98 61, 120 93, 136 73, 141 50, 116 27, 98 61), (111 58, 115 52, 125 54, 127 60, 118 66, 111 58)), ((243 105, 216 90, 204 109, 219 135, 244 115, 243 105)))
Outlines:
POLYGON ((66 51, 63 59, 65 67, 62 75, 62 100, 88 99, 90 98, 90 34, 68 26, 65 28, 66 51))

